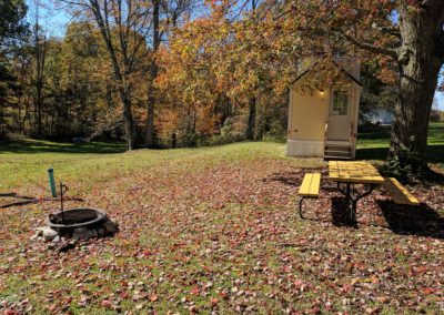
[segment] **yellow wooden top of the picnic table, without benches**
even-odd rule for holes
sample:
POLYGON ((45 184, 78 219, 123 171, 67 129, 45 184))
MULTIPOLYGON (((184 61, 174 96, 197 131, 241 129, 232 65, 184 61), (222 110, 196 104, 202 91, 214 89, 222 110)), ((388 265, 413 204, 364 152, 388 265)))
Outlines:
POLYGON ((376 167, 364 161, 329 161, 329 179, 343 183, 384 183, 376 167))

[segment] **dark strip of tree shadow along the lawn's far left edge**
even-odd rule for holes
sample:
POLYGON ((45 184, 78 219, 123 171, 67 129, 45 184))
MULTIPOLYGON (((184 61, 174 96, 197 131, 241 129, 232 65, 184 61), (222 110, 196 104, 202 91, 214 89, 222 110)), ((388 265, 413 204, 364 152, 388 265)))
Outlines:
POLYGON ((49 141, 0 141, 0 153, 122 153, 125 151, 123 143, 69 143, 49 141))

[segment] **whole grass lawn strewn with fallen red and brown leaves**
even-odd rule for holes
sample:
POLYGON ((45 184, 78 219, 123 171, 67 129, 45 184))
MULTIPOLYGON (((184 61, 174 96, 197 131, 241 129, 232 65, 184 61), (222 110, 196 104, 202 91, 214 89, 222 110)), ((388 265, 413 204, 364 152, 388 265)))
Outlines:
MULTIPOLYGON (((443 129, 432 125, 434 149, 444 148, 443 129)), ((359 156, 379 159, 387 143, 385 131, 362 134, 359 156)), ((30 236, 58 203, 0 209, 0 311, 443 312, 442 185, 410 185, 423 202, 418 209, 375 191, 359 203, 355 230, 343 224, 344 204, 326 180, 320 200, 306 202, 309 219, 299 219, 303 174, 326 177, 326 166, 321 159, 285 158, 284 144, 122 150, 0 144, 0 205, 48 197, 52 166, 68 195, 83 199, 68 206, 105 210, 120 224, 114 237, 57 254, 30 236)), ((444 163, 438 154, 433 162, 444 163)))

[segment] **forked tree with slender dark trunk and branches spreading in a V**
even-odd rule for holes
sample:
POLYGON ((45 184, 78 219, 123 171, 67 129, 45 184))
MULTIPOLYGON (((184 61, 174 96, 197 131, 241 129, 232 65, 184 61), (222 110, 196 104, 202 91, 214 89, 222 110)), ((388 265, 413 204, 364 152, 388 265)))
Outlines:
POLYGON ((131 151, 135 141, 131 75, 138 67, 138 53, 144 48, 151 28, 152 8, 142 0, 62 1, 73 6, 75 14, 92 19, 100 30, 122 103, 127 148, 131 151))

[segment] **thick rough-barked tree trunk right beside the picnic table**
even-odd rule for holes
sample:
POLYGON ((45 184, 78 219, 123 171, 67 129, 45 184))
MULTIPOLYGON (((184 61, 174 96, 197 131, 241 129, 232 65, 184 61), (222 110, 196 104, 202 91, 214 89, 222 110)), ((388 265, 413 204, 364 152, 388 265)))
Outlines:
MULTIPOLYGON (((401 1, 404 2, 404 1, 401 1)), ((395 106, 390 158, 410 150, 417 170, 426 167, 428 119, 437 77, 443 64, 441 51, 444 6, 432 1, 424 8, 400 6, 402 49, 400 54, 400 95, 395 106), (441 21, 440 21, 441 20, 441 21)))

